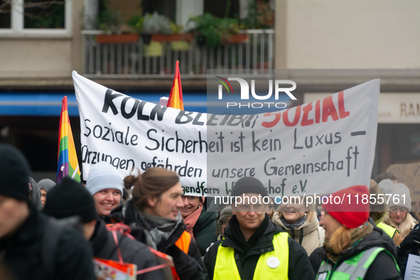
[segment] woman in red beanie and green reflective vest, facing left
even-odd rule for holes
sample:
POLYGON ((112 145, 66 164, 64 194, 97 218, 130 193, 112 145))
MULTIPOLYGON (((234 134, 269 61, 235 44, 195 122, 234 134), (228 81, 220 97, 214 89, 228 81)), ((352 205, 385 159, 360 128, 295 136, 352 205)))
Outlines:
POLYGON ((369 195, 369 190, 365 185, 345 188, 331 195, 333 201, 323 204, 325 254, 316 279, 401 279, 394 242, 383 230, 368 222, 370 205, 362 203, 361 199, 357 203, 355 195, 362 198, 369 195), (350 195, 351 200, 334 204, 334 198, 343 198, 343 195, 345 198, 350 195))

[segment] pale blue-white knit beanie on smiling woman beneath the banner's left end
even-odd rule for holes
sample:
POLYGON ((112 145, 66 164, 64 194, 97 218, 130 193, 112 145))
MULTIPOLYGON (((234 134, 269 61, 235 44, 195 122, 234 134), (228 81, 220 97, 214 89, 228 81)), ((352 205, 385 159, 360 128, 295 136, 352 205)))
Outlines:
POLYGON ((123 185, 124 182, 117 169, 105 161, 101 161, 92 166, 86 182, 86 188, 91 195, 95 195, 99 190, 106 188, 114 188, 122 193, 123 185))

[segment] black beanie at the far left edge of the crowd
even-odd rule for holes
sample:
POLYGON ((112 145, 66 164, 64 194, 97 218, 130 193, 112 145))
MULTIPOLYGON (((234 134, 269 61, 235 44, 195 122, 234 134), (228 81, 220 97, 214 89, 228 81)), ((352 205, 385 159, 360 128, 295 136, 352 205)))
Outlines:
POLYGON ((29 201, 29 163, 9 144, 0 144, 0 194, 29 201))

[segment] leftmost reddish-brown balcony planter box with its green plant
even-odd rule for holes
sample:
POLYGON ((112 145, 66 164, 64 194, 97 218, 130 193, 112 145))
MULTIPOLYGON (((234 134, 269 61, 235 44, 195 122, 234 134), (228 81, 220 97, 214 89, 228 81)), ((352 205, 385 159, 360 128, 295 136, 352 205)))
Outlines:
POLYGON ((99 14, 98 24, 99 29, 104 31, 104 34, 96 36, 97 43, 132 43, 139 41, 139 34, 121 32, 119 11, 105 9, 99 14))

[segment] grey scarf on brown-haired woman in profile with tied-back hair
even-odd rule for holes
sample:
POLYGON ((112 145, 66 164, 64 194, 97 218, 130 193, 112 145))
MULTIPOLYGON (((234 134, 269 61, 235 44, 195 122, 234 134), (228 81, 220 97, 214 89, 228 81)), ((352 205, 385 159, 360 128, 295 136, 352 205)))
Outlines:
POLYGON ((183 222, 180 213, 176 216, 176 220, 158 217, 143 211, 136 211, 135 216, 136 223, 144 227, 146 244, 158 251, 183 222))

